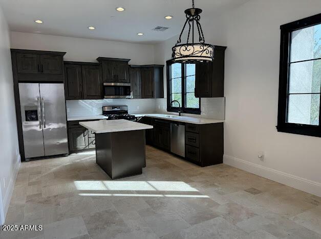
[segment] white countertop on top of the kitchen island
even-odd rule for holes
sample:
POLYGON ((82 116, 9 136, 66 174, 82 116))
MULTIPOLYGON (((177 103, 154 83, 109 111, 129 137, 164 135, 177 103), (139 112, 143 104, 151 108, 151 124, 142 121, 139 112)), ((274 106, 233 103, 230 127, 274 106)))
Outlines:
POLYGON ((88 122, 79 122, 79 125, 87 129, 90 129, 97 134, 131 131, 131 130, 153 129, 153 126, 151 125, 145 125, 145 124, 141 124, 133 121, 126 121, 126 120, 88 121, 88 122))

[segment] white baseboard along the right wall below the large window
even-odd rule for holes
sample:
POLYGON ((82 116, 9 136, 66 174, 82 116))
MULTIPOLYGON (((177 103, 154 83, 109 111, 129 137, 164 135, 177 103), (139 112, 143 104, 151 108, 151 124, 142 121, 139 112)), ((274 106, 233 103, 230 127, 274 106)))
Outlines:
POLYGON ((301 178, 292 174, 277 171, 274 169, 270 169, 265 166, 248 162, 243 159, 239 159, 229 155, 223 156, 223 162, 235 168, 247 171, 255 175, 259 175, 263 178, 267 178, 272 181, 279 182, 287 186, 302 190, 309 194, 321 197, 321 183, 311 181, 306 178, 301 178))

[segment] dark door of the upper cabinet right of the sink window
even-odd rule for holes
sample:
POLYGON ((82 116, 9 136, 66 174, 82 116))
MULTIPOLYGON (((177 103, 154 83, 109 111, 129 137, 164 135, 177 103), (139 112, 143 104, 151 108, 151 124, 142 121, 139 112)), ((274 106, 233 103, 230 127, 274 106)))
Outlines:
POLYGON ((195 97, 212 97, 212 63, 196 64, 195 97))

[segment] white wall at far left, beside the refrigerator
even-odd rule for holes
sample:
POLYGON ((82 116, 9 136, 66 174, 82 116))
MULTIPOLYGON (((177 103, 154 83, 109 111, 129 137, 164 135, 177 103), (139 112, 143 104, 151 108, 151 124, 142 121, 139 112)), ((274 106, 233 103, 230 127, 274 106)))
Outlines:
POLYGON ((20 165, 10 56, 10 32, 0 7, 0 224, 4 223, 20 165))

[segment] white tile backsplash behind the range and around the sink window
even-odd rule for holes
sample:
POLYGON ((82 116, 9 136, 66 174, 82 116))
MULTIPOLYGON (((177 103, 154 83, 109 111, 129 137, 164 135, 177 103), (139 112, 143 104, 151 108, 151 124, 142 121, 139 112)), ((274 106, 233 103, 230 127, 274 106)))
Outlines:
MULTIPOLYGON (((68 117, 101 115, 102 107, 127 105, 130 114, 167 113, 167 99, 104 99, 66 101, 68 117)), ((196 117, 225 119, 225 98, 202 98, 201 115, 185 114, 196 117)))

